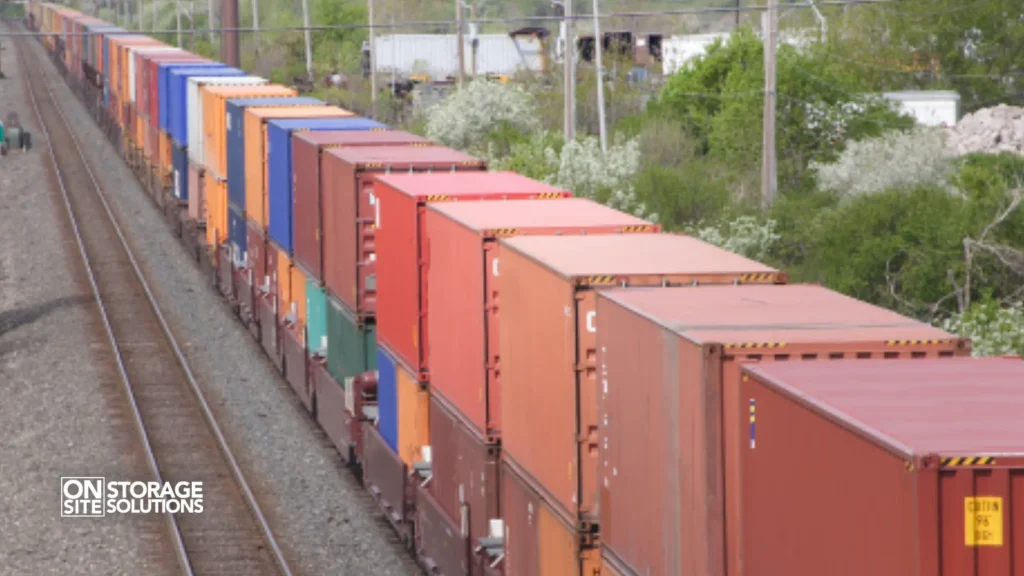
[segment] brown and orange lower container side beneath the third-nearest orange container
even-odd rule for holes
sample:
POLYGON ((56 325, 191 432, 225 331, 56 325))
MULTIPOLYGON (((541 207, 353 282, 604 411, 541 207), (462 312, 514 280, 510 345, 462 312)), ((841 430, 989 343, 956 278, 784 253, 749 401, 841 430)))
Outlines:
POLYGON ((600 553, 503 462, 505 576, 592 576, 600 553))

